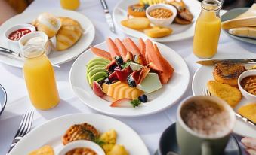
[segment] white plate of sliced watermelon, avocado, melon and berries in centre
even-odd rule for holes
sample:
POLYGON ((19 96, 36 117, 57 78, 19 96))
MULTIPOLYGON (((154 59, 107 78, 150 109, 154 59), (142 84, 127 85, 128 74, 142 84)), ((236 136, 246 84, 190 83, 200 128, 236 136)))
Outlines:
POLYGON ((162 44, 107 38, 79 56, 69 79, 89 107, 128 117, 173 105, 187 89, 189 71, 184 60, 162 44))

